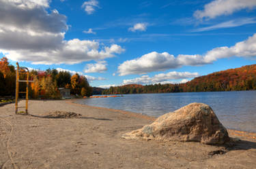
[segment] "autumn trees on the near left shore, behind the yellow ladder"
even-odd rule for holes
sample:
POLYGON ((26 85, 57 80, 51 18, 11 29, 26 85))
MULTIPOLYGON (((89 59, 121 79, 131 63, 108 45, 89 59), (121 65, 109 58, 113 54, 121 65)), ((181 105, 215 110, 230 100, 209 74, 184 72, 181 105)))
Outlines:
MULTIPOLYGON (((20 73, 20 79, 25 79, 20 73)), ((91 96, 92 88, 86 77, 79 74, 71 75, 67 71, 47 69, 46 71, 32 70, 29 72, 29 79, 33 83, 29 85, 30 98, 61 98, 59 88, 70 89, 71 94, 79 96, 91 96)), ((0 96, 14 96, 16 85, 16 71, 10 65, 8 58, 0 60, 0 96)), ((20 91, 25 91, 25 83, 20 83, 20 91)))

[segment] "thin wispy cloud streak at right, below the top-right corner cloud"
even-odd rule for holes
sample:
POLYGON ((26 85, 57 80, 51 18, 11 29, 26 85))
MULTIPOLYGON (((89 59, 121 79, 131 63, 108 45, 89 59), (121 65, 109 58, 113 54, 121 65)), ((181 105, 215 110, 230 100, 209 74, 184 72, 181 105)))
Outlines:
POLYGON ((242 26, 244 24, 254 24, 254 23, 256 23, 255 18, 242 18, 242 19, 236 19, 236 20, 229 20, 227 22, 222 22, 220 24, 215 24, 213 26, 207 26, 207 27, 195 29, 192 32, 211 31, 214 29, 231 28, 236 26, 242 26))

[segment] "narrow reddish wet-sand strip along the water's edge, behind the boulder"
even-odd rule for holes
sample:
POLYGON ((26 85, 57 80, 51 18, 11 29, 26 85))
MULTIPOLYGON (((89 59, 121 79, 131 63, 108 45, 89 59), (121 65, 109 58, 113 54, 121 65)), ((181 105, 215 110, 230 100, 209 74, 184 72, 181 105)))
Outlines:
MULTIPOLYGON (((131 115, 132 117, 137 117, 137 118, 141 118, 141 119, 150 119, 152 122, 155 121, 158 118, 158 117, 152 117, 150 115, 145 115, 145 114, 141 114, 141 113, 135 113, 135 112, 132 112, 132 111, 123 111, 123 110, 119 110, 119 109, 111 109, 111 108, 106 108, 106 107, 96 107, 96 106, 76 103, 75 100, 78 100, 78 99, 83 99, 83 98, 73 98, 73 99, 68 99, 66 101, 68 103, 71 103, 71 104, 74 104, 74 105, 91 107, 91 108, 94 108, 94 109, 115 111, 115 112, 123 113, 123 114, 126 114, 126 115, 131 115)), ((232 136, 237 136, 237 137, 240 136, 242 138, 253 139, 253 140, 256 141, 256 132, 246 132, 246 131, 242 131, 242 130, 233 130, 233 129, 229 129, 229 128, 227 128, 227 131, 232 136)))

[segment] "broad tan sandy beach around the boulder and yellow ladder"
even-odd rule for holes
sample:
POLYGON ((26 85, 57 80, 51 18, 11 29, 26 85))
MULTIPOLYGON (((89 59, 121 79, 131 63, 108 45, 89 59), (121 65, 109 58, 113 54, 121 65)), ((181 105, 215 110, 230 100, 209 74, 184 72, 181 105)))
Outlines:
POLYGON ((0 168, 256 168, 254 133, 229 130, 241 138, 229 146, 126 140, 122 134, 154 118, 72 100, 31 100, 29 113, 0 107, 0 168), (52 111, 81 116, 42 116, 52 111))

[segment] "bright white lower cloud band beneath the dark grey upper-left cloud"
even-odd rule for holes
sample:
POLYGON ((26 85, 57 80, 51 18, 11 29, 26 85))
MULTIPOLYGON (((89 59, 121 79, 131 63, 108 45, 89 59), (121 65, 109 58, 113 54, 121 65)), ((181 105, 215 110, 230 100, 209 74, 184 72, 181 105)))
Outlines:
MULTIPOLYGON (((1 33, 0 33, 1 37, 1 33)), ((0 40, 1 41, 1 40, 0 40)), ((96 41, 72 39, 62 41, 56 50, 33 51, 33 50, 1 50, 11 60, 24 60, 32 64, 76 64, 88 60, 111 58, 115 54, 124 51, 119 45, 111 45, 100 50, 100 44, 96 41)))

